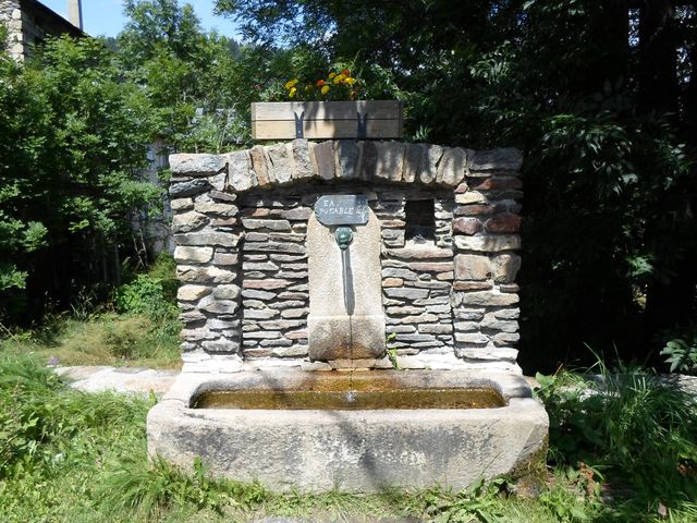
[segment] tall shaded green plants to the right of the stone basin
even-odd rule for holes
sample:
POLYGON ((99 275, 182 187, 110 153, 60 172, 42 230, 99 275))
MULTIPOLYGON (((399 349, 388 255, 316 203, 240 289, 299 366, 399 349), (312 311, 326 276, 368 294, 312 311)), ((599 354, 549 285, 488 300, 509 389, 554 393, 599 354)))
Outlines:
POLYGON ((538 376, 552 463, 592 463, 610 483, 631 488, 636 506, 677 509, 694 499, 694 398, 637 369, 600 369, 599 378, 538 376))

